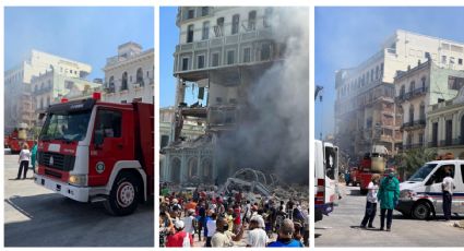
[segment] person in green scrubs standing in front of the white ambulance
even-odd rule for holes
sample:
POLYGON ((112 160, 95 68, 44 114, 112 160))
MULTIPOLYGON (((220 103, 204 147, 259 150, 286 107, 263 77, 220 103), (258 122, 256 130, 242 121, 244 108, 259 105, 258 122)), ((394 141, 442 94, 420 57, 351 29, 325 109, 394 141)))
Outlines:
POLYGON ((389 176, 380 182, 377 198, 380 202, 380 230, 384 229, 386 216, 386 231, 390 231, 393 220, 393 210, 397 205, 400 198, 400 181, 396 179, 393 170, 390 170, 389 176))

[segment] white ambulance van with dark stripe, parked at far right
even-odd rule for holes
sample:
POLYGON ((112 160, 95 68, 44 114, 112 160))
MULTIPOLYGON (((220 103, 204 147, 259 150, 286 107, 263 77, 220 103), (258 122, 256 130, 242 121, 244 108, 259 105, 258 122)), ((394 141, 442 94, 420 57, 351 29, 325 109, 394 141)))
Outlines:
POLYGON ((426 163, 407 181, 400 184, 396 210, 405 216, 426 219, 443 214, 441 183, 450 169, 456 189, 453 192, 452 214, 464 214, 464 160, 436 160, 426 163))

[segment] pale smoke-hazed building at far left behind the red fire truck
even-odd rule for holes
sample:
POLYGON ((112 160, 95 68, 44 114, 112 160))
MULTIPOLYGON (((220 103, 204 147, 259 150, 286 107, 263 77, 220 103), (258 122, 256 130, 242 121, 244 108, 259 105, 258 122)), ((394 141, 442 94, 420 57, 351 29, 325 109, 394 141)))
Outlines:
MULTIPOLYGON (((31 81, 33 76, 51 70, 70 77, 85 77, 92 68, 82 62, 32 50, 26 60, 4 73, 5 133, 11 132, 20 123, 25 123, 29 128, 34 125, 36 115, 31 81)), ((45 86, 48 86, 48 83, 45 86)))

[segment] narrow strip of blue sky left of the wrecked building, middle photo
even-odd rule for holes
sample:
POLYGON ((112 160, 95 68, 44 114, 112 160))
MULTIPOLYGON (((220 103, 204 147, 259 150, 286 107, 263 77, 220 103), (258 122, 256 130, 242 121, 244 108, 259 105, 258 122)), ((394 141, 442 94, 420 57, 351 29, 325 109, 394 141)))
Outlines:
POLYGON ((172 106, 176 97, 176 79, 172 76, 172 55, 179 43, 176 15, 177 7, 159 8, 159 107, 172 106))

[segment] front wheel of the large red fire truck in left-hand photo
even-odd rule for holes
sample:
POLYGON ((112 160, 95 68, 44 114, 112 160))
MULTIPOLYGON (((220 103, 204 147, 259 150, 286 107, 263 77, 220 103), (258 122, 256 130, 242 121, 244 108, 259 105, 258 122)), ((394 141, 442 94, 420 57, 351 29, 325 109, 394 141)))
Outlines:
POLYGON ((139 180, 133 175, 119 174, 108 200, 105 201, 105 208, 116 216, 132 214, 139 205, 139 180))

